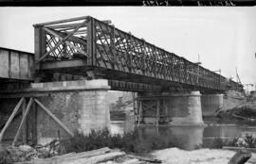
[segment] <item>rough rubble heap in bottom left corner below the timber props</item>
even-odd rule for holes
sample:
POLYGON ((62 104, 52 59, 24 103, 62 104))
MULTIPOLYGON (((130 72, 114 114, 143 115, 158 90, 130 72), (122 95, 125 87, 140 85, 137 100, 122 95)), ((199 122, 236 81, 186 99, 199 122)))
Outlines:
POLYGON ((29 145, 6 146, 2 147, 0 164, 9 164, 13 162, 23 162, 32 159, 57 156, 60 152, 58 141, 53 141, 44 146, 37 145, 35 147, 31 147, 29 145))

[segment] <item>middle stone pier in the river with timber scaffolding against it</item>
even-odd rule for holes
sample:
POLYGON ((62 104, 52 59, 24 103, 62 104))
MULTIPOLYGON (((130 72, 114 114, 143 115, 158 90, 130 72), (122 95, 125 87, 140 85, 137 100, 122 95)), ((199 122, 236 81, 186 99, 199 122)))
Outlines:
POLYGON ((137 123, 169 123, 170 125, 201 126, 201 94, 188 93, 138 93, 137 123))

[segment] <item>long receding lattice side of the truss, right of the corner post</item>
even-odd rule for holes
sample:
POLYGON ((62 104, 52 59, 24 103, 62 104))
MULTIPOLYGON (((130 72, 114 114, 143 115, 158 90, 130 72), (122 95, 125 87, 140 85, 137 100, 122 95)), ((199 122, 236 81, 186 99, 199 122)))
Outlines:
POLYGON ((131 33, 95 20, 97 65, 205 88, 220 88, 225 77, 166 52, 131 33), (220 79, 221 78, 221 79, 220 79))

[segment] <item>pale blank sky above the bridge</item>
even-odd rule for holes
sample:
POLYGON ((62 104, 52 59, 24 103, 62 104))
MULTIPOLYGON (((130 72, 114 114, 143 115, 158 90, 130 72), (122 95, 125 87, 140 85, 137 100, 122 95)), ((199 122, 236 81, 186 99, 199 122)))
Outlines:
POLYGON ((256 85, 256 8, 0 8, 0 46, 34 52, 33 24, 90 15, 212 71, 256 85))

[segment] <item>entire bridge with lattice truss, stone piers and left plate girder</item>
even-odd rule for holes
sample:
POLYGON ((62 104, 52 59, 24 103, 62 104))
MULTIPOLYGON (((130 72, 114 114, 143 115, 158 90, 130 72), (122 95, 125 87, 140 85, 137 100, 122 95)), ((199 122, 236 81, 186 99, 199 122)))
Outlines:
POLYGON ((223 92, 243 90, 110 21, 85 16, 34 30, 34 54, 0 48, 0 141, 13 145, 109 127, 108 90, 137 92, 137 124, 186 126, 204 125, 205 108, 222 109, 223 92))

